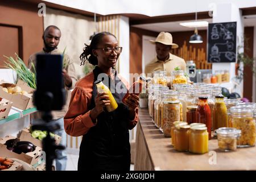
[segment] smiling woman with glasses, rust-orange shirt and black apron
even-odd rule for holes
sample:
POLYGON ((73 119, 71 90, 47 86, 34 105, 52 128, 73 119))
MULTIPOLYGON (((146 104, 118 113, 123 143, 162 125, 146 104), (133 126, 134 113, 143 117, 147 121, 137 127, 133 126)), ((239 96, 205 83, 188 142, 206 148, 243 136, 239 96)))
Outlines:
POLYGON ((129 85, 114 69, 121 52, 114 35, 100 32, 93 36, 90 45, 85 44, 80 56, 81 65, 88 60, 96 68, 77 82, 64 117, 67 134, 83 135, 79 171, 130 170, 129 130, 138 122, 139 97, 130 94, 128 104, 122 103, 129 85), (109 87, 117 101, 118 107, 112 112, 105 109, 110 104, 109 96, 97 92, 94 82, 98 79, 109 87))

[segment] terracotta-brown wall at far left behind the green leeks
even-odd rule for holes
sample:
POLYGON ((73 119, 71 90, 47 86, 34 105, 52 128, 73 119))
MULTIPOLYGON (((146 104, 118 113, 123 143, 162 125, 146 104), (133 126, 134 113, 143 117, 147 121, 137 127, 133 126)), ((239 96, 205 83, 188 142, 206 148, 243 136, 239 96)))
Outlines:
MULTIPOLYGON (((43 48, 43 17, 38 16, 38 5, 22 1, 0 1, 0 24, 2 26, 19 27, 19 56, 27 64, 28 57, 43 48)), ((16 39, 11 38, 8 43, 0 44, 3 47, 12 47, 16 39)), ((3 52, 6 56, 9 52, 16 52, 11 48, 7 52, 3 52)), ((2 54, 2 53, 1 53, 2 54)), ((6 60, 0 55, 0 60, 6 60)))

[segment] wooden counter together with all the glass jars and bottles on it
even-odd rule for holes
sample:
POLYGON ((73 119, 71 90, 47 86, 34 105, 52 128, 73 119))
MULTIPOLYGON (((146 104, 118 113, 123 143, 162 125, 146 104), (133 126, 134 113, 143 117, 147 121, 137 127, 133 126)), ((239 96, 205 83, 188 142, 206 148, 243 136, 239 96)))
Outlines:
POLYGON ((155 72, 147 84, 134 169, 255 170, 256 104, 225 98, 221 86, 191 84, 183 71, 171 80, 155 72))

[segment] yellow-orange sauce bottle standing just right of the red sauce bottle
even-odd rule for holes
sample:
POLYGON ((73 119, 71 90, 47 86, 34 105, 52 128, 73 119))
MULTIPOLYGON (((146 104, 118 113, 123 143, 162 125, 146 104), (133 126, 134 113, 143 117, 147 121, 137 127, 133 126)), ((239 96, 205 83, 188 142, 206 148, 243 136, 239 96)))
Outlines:
POLYGON ((224 103, 224 96, 215 96, 213 107, 213 130, 228 127, 228 111, 224 103))

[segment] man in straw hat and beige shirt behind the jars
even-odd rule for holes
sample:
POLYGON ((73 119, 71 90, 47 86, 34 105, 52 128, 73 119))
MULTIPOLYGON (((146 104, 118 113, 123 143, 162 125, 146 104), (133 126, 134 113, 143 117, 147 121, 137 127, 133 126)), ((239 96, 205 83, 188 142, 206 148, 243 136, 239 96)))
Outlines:
POLYGON ((155 44, 156 57, 146 65, 145 73, 154 73, 154 71, 167 71, 167 76, 170 76, 174 68, 186 69, 184 59, 172 55, 171 49, 179 47, 172 43, 172 35, 168 32, 160 32, 155 40, 150 40, 151 44, 155 44))

